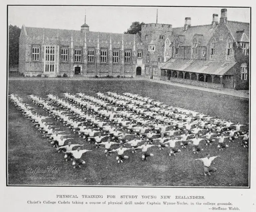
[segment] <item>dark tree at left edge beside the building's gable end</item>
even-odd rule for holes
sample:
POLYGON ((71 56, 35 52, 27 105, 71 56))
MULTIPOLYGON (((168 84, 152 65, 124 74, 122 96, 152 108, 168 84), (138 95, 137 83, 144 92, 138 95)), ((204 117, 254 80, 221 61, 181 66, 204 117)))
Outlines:
POLYGON ((21 28, 9 25, 9 67, 19 64, 19 38, 21 28))

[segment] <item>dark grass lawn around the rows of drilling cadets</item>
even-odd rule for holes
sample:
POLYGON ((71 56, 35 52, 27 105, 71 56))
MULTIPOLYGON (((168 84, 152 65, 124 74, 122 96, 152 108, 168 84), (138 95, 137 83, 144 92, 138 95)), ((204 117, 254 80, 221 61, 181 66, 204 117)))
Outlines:
MULTIPOLYGON (((189 88, 139 80, 15 80, 9 81, 9 94, 22 97, 30 94, 46 97, 52 92, 61 96, 64 92, 82 92, 94 95, 96 92, 131 92, 148 96, 173 106, 202 112, 222 119, 249 122, 249 101, 239 97, 218 93, 193 90, 189 88)), ((32 104, 32 103, 31 103, 32 104)), ((34 105, 33 105, 34 106, 34 105)), ((8 104, 8 176, 9 184, 28 185, 123 185, 123 186, 248 186, 248 149, 238 141, 219 152, 217 144, 205 146, 204 151, 192 154, 192 148, 182 149, 176 157, 169 157, 168 150, 150 148, 154 157, 141 160, 141 153, 125 152, 129 159, 118 164, 115 154, 105 157, 104 148, 95 149, 93 144, 84 148, 93 150, 85 153, 82 159, 86 165, 73 169, 71 162, 64 160, 64 154, 57 153, 49 142, 42 138, 33 124, 23 117, 12 103, 8 104), (203 164, 195 161, 206 153, 220 155, 212 164, 218 170, 211 176, 203 174, 203 164), (59 167, 54 179, 33 179, 28 167, 47 169, 47 166, 59 167)), ((40 113, 44 111, 34 106, 40 113)), ((69 134, 71 131, 54 122, 69 134)), ((83 144, 77 134, 71 135, 72 143, 83 144)), ((37 173, 37 176, 43 173, 37 173)), ((44 175, 47 175, 47 173, 44 175)))

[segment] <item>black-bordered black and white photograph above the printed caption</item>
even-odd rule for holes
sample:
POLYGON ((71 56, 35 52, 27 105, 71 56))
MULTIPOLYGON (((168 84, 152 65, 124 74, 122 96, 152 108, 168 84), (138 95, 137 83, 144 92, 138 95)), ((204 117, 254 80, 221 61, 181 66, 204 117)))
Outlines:
POLYGON ((7 186, 250 188, 250 7, 7 21, 7 186))

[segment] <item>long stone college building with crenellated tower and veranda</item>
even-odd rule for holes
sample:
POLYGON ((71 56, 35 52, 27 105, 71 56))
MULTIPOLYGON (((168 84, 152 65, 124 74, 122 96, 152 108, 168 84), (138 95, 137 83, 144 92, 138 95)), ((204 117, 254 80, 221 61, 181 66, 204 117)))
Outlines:
POLYGON ((135 76, 214 88, 249 88, 249 23, 213 14, 209 25, 145 24, 139 34, 22 26, 19 71, 25 75, 135 76))

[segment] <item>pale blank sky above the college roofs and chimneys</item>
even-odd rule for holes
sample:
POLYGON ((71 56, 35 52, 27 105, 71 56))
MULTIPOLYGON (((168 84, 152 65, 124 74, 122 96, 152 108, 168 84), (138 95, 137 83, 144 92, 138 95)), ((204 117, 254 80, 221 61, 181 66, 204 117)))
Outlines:
MULTIPOLYGON (((134 21, 182 27, 185 17, 191 25, 211 24, 212 14, 220 18, 220 7, 111 7, 111 6, 9 6, 8 22, 21 27, 80 30, 84 23, 94 32, 125 32, 134 21)), ((230 21, 250 22, 249 8, 226 8, 230 21)))

